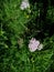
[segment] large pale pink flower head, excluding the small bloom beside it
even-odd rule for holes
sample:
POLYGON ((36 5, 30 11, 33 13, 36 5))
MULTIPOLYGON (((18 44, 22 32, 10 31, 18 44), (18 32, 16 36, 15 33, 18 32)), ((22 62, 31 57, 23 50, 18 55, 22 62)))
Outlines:
POLYGON ((39 44, 40 44, 40 41, 37 41, 37 40, 35 40, 34 38, 32 38, 32 39, 30 40, 30 43, 29 43, 29 49, 30 49, 30 51, 31 51, 31 52, 34 52, 34 51, 37 49, 39 44))

